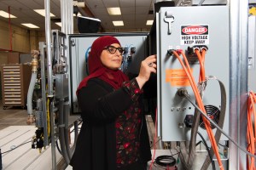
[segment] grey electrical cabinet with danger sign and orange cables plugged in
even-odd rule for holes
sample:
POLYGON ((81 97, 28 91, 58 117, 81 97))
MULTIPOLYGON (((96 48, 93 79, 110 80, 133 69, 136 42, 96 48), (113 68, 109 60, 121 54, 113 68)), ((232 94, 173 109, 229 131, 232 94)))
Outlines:
MULTIPOLYGON (((200 63, 195 55, 189 54, 193 48, 207 48, 205 56, 207 87, 203 103, 207 116, 218 122, 221 110, 221 93, 216 77, 223 82, 226 92, 224 131, 229 133, 229 84, 230 82, 230 26, 228 6, 197 6, 160 8, 156 14, 157 34, 157 79, 158 79, 158 133, 163 141, 186 141, 190 139, 191 122, 195 106, 188 99, 177 95, 177 89, 186 88, 195 103, 195 94, 189 86, 182 65, 178 59, 168 54, 171 49, 183 50, 189 66, 198 82, 200 63)), ((205 139, 207 130, 200 123, 198 131, 205 139)), ((212 126, 213 133, 216 127, 212 126)), ((200 139, 198 136, 197 139, 200 139)), ((221 140, 227 139, 224 135, 221 140)))

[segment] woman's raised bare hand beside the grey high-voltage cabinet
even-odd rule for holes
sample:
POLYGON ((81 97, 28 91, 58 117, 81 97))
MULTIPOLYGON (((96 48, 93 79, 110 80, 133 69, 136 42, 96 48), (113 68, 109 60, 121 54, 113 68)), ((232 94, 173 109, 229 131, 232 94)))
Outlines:
POLYGON ((144 59, 141 63, 141 68, 139 75, 136 77, 137 83, 140 88, 143 88, 143 85, 148 82, 150 74, 156 73, 156 55, 150 55, 144 59))

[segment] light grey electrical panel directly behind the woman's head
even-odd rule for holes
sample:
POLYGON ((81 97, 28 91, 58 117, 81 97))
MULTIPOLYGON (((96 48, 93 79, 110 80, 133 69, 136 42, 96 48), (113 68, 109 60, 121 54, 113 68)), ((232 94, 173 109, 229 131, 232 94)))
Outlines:
POLYGON ((147 36, 148 33, 119 33, 119 34, 80 34, 69 35, 69 54, 71 82, 71 109, 72 113, 79 112, 79 105, 76 96, 76 90, 79 83, 88 76, 87 60, 90 53, 92 42, 101 36, 117 37, 122 47, 125 48, 123 55, 123 64, 121 70, 131 74, 138 74, 141 61, 147 57, 147 36))

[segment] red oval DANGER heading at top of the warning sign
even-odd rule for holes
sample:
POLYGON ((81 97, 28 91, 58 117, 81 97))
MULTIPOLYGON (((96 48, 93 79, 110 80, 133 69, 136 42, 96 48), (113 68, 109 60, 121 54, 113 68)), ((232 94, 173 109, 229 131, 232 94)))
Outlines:
POLYGON ((207 34, 208 26, 182 26, 182 35, 207 34))

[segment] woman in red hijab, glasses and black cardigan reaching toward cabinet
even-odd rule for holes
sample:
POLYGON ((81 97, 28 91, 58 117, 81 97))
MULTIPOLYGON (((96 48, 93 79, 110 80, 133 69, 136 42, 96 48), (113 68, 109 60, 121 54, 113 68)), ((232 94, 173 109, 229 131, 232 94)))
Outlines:
POLYGON ((119 71, 123 52, 111 36, 91 46, 90 76, 77 90, 83 125, 70 162, 74 170, 144 170, 151 160, 139 97, 156 72, 156 56, 144 59, 138 77, 130 81, 119 71))

